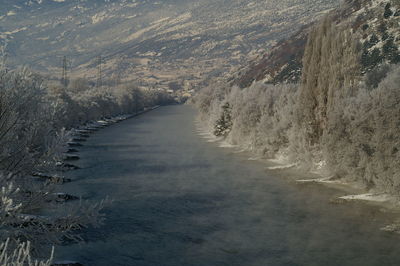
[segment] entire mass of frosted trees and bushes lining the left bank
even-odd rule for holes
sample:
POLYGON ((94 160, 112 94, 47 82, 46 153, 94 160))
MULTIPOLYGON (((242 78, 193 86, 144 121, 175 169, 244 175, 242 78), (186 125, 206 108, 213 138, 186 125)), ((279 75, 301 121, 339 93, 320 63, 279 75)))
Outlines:
POLYGON ((34 180, 62 161, 68 130, 87 122, 170 101, 162 92, 134 86, 90 86, 78 80, 68 88, 49 86, 26 68, 0 65, 0 262, 2 265, 48 265, 30 251, 49 244, 80 241, 81 229, 98 226, 106 202, 55 208, 49 182, 34 180), (50 208, 51 206, 51 208, 50 208), (38 213, 45 213, 39 215, 38 213), (31 244, 30 244, 31 243, 31 244))

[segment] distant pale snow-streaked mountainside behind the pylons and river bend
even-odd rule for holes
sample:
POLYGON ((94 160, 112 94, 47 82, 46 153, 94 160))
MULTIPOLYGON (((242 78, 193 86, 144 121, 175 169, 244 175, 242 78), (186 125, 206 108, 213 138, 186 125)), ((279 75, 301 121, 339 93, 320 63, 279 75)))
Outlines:
POLYGON ((61 76, 107 78, 143 86, 196 87, 293 34, 337 0, 62 1, 0 3, 0 41, 8 64, 61 76), (278 3, 278 4, 277 4, 278 3), (186 82, 183 82, 185 80, 186 82))

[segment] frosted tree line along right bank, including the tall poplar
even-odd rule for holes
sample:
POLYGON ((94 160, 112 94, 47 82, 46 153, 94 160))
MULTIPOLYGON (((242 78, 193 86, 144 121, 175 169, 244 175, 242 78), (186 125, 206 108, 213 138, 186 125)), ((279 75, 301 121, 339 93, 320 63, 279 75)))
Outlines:
POLYGON ((210 86, 194 99, 200 117, 265 158, 399 195, 400 65, 365 71, 360 39, 327 16, 309 33, 299 83, 210 86))

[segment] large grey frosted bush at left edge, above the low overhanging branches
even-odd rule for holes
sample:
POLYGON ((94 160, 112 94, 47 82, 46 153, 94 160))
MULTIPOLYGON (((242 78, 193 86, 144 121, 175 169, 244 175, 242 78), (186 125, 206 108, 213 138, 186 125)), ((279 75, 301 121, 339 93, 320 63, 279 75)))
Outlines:
POLYGON ((42 79, 27 69, 0 69, 0 169, 30 172, 40 164, 51 116, 42 79))

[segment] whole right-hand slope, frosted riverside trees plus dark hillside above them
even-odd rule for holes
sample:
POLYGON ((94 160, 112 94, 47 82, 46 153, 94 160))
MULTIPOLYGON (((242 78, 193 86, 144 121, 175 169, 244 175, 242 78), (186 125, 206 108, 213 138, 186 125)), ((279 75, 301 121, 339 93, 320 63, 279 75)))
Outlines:
POLYGON ((400 192, 400 2, 354 0, 197 95, 216 136, 327 180, 400 192))

